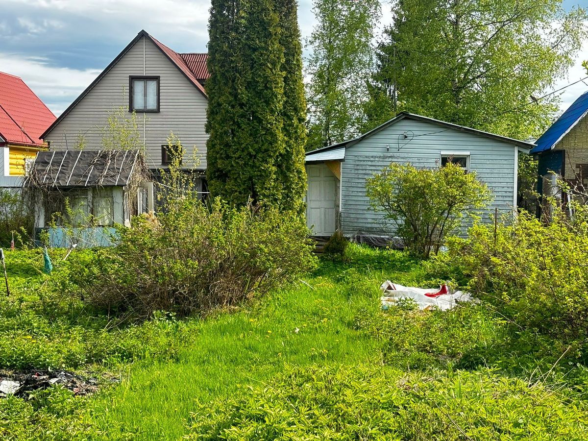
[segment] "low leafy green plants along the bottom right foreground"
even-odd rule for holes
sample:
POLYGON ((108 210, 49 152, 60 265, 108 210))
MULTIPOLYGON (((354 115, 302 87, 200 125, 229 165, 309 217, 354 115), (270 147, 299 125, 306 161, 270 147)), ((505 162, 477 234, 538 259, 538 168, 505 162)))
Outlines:
POLYGON ((583 440, 586 410, 491 370, 293 370, 192 413, 198 440, 583 440))

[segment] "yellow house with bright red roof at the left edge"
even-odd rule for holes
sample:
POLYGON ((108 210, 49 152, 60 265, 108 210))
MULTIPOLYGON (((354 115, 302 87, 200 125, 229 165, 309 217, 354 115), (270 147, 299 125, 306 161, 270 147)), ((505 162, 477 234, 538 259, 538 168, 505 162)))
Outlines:
POLYGON ((55 115, 18 76, 0 72, 0 188, 19 188, 55 115))

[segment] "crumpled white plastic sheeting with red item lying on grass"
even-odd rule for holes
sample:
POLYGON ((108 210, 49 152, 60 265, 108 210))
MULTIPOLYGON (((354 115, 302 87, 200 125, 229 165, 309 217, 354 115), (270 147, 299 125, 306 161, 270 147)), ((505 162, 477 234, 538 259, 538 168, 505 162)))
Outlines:
POLYGON ((421 310, 452 309, 460 302, 472 302, 472 295, 463 291, 456 291, 454 293, 439 288, 415 288, 413 286, 402 286, 397 283, 392 283, 390 280, 382 283, 380 286, 382 290, 382 309, 388 309, 390 306, 396 305, 396 302, 401 299, 412 299, 419 306, 421 310), (444 293, 447 292, 447 293, 444 293))

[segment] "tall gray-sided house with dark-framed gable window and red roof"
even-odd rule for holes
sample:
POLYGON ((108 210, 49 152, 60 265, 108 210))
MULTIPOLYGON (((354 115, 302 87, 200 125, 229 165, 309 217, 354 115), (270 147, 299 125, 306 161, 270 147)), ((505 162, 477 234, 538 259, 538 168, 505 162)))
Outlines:
POLYGON ((173 132, 185 148, 182 164, 205 170, 206 58, 179 54, 141 31, 42 138, 51 150, 75 149, 80 136, 86 149, 103 149, 109 112, 123 106, 129 115, 136 112, 149 169, 165 167, 166 139, 173 132))

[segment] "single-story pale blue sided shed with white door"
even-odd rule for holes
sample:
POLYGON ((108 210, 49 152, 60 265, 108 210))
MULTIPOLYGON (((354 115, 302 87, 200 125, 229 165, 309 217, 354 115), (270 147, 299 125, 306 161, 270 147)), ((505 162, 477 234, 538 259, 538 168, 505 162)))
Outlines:
MULTIPOLYGON (((534 145, 425 116, 400 113, 358 138, 306 153, 306 218, 316 236, 390 236, 392 226, 369 206, 366 179, 391 162, 432 168, 452 161, 476 172, 494 201, 489 212, 516 211, 519 152, 534 145)), ((488 216, 485 216, 488 218, 488 216)))

